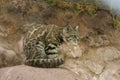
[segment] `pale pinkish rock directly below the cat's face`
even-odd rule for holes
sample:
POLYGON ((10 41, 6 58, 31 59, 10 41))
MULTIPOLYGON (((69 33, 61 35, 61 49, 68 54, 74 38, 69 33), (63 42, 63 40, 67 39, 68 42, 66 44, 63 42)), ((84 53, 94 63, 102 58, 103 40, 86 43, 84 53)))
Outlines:
POLYGON ((60 46, 58 53, 67 58, 79 58, 84 53, 85 49, 79 45, 65 43, 60 46))

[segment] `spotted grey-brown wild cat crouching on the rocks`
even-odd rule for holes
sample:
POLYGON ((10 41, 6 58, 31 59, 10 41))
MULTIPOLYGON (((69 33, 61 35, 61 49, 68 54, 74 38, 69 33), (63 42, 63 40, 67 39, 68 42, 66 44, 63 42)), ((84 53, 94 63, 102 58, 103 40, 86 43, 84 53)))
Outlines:
POLYGON ((64 63, 58 56, 58 48, 63 42, 78 42, 78 26, 58 27, 57 25, 31 24, 24 37, 26 65, 55 68, 64 63))

